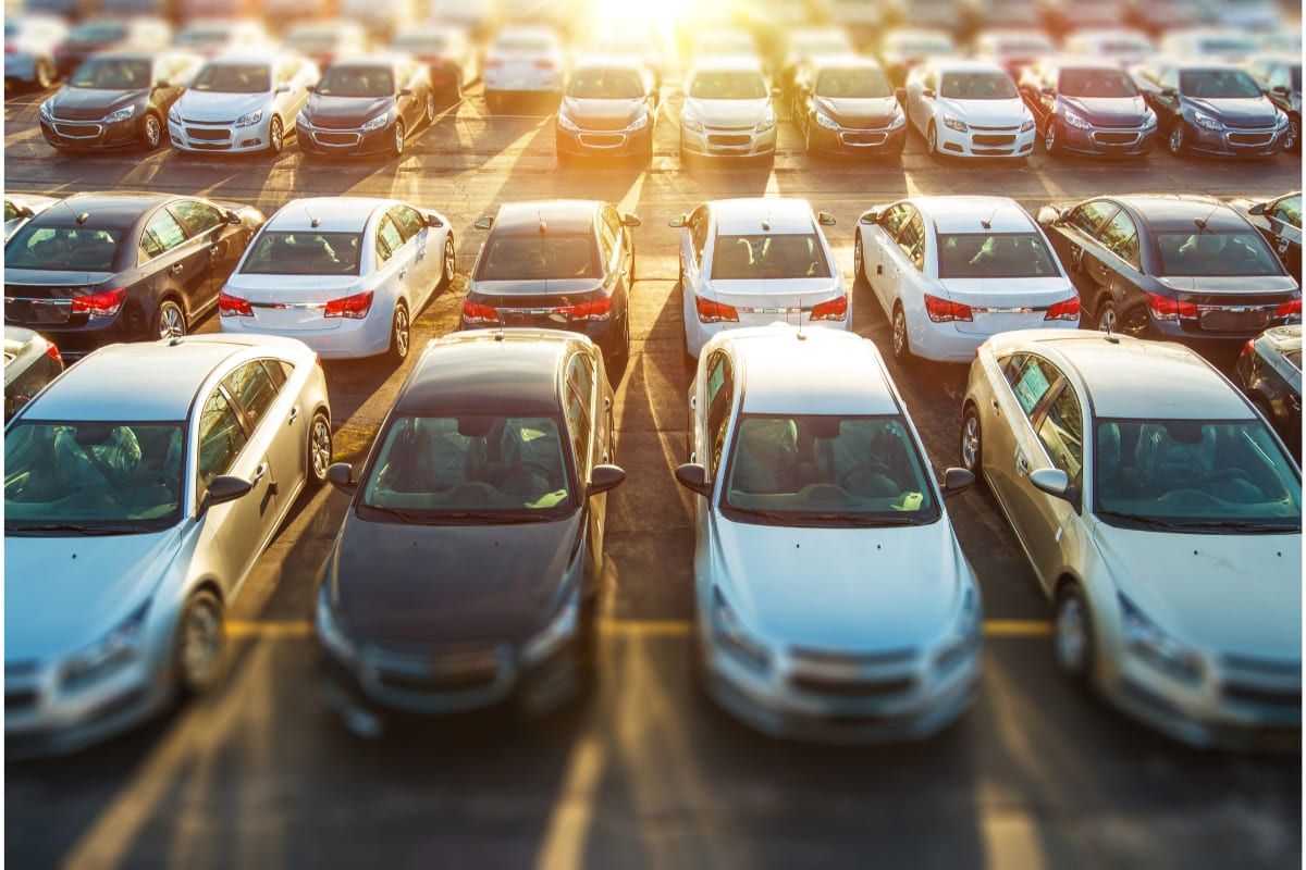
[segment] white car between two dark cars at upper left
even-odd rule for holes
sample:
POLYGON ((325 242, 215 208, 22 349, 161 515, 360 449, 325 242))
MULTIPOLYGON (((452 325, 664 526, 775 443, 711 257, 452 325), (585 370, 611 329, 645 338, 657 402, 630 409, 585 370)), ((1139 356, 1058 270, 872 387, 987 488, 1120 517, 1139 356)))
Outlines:
POLYGON ((281 154, 317 77, 317 65, 295 55, 215 57, 200 68, 167 112, 172 147, 281 154))

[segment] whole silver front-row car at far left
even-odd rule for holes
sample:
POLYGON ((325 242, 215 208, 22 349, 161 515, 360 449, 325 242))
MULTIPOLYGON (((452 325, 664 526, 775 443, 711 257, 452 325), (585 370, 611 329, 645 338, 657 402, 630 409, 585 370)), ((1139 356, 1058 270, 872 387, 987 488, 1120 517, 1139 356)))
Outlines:
POLYGON ((71 751, 223 667, 223 612, 332 458, 313 352, 102 348, 5 427, 5 749, 71 751))

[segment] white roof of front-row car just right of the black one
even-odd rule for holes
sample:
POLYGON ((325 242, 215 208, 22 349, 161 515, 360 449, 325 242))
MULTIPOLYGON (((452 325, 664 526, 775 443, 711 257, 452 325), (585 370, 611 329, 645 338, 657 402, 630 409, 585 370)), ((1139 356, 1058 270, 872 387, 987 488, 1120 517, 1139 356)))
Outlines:
POLYGON ((879 351, 855 333, 761 326, 726 335, 744 413, 901 412, 879 351))

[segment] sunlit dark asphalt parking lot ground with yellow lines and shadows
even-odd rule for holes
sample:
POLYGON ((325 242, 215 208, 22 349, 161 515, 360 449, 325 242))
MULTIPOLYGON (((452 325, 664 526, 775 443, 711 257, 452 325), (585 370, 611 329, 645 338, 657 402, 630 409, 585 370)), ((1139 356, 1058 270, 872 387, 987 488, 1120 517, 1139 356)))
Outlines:
MULTIPOLYGON (((1296 866, 1299 757, 1185 749, 1058 677, 1047 608, 995 502, 949 502, 983 591, 976 707, 921 745, 807 746, 727 719, 690 677, 692 537, 677 235, 666 220, 705 200, 804 197, 852 286, 858 214, 904 196, 1004 194, 1027 209, 1100 193, 1271 197, 1301 187, 1292 155, 1268 162, 1049 159, 938 163, 919 137, 901 160, 810 160, 782 123, 773 167, 682 167, 669 93, 650 171, 555 168, 547 115, 490 119, 475 89, 397 164, 154 154, 68 155, 37 127, 42 94, 5 103, 5 188, 34 193, 200 193, 270 215, 299 196, 393 196, 453 223, 460 278, 414 322, 417 347, 457 323, 479 245, 473 222, 513 200, 619 205, 636 230, 632 352, 616 390, 602 673, 585 703, 542 720, 508 715, 346 732, 320 703, 308 617, 346 506, 302 498, 229 612, 232 661, 200 703, 81 754, 7 766, 12 866, 1296 866)), ((885 356, 888 323, 867 288, 854 329, 885 356)), ((217 316, 200 331, 218 329, 217 316)), ((360 460, 414 357, 326 369, 337 459, 360 460)), ((964 367, 889 363, 936 471, 957 464, 964 367)), ((837 376, 837 373, 833 373, 837 376)), ((1144 373, 1140 373, 1140 376, 1144 373)), ((1164 387, 1158 387, 1164 389, 1164 387)), ((855 558, 855 554, 849 554, 855 558)), ((802 583, 802 578, 794 578, 802 583)))

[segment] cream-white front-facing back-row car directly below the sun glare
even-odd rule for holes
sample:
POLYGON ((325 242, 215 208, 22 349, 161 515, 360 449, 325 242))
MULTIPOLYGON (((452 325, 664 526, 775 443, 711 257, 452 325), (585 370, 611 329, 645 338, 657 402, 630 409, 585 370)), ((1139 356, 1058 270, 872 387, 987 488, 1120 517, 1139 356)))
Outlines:
POLYGON ((748 57, 700 61, 684 80, 680 159, 776 153, 776 110, 761 64, 748 57))

